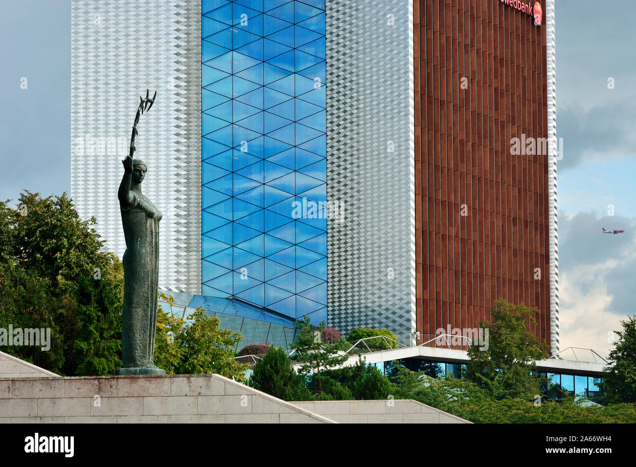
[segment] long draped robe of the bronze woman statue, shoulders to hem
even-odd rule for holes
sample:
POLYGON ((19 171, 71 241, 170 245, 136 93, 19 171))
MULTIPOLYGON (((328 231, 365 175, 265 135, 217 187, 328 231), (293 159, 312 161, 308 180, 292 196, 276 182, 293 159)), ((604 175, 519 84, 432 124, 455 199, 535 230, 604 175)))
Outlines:
POLYGON ((153 364, 159 274, 159 221, 162 214, 146 196, 130 191, 121 203, 126 238, 121 317, 123 368, 156 368, 153 364), (129 198, 129 200, 130 200, 129 198))

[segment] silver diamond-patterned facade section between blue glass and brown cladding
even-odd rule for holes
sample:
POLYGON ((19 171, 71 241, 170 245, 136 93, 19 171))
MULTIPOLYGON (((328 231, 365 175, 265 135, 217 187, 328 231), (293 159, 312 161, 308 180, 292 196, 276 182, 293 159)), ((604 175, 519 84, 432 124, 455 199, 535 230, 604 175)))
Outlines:
POLYGON ((327 0, 328 323, 415 330, 413 4, 327 0))

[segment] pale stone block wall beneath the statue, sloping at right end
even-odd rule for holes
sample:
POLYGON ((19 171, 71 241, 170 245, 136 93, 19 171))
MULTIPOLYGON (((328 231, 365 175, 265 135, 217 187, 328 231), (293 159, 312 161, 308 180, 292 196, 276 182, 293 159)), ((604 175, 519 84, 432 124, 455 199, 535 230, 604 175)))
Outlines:
POLYGON ((219 375, 0 379, 0 423, 334 423, 219 375))

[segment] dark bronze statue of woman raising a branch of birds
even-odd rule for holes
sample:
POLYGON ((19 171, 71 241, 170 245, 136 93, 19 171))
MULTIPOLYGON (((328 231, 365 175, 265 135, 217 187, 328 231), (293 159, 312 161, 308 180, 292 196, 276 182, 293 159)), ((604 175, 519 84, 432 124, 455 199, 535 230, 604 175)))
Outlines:
POLYGON ((130 155, 122 161, 124 173, 118 198, 121 223, 126 239, 123 254, 124 292, 121 317, 121 354, 123 368, 116 375, 165 374, 153 363, 157 321, 159 274, 159 221, 162 214, 141 193, 141 182, 148 165, 133 159, 135 135, 140 112, 148 111, 155 96, 141 98, 130 137, 130 155))

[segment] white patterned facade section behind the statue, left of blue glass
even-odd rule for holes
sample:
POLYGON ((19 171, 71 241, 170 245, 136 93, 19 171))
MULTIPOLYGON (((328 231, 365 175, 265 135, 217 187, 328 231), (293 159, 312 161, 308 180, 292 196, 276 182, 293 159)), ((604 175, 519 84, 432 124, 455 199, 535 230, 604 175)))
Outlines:
POLYGON ((148 164, 144 195, 162 212, 159 287, 201 290, 200 2, 72 0, 71 196, 95 216, 104 248, 125 240, 117 190, 139 95, 135 158, 148 164), (118 146, 118 147, 117 147, 118 146))

